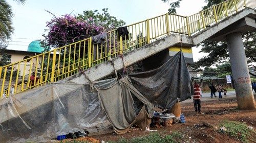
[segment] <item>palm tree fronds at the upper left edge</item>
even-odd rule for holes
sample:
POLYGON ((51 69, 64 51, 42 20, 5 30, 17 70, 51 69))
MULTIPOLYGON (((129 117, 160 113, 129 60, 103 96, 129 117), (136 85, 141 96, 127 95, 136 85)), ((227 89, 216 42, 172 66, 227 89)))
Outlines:
MULTIPOLYGON (((24 4, 26 0, 14 0, 18 4, 24 4)), ((0 40, 6 42, 13 34, 12 26, 13 12, 11 6, 5 1, 0 0, 0 40)))

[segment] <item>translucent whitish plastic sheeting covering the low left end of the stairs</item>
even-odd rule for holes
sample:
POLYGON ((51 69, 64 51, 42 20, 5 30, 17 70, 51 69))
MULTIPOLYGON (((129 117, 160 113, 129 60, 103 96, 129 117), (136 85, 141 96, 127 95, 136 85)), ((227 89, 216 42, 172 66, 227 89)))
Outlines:
POLYGON ((49 142, 105 120, 89 84, 48 84, 0 101, 0 142, 49 142))

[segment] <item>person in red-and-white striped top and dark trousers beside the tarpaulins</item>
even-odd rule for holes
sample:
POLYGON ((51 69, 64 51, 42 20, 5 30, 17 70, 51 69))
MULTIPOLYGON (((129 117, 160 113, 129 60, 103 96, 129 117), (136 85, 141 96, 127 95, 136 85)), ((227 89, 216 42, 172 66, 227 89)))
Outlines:
POLYGON ((200 94, 200 87, 199 85, 195 82, 194 84, 194 95, 193 95, 193 100, 194 100, 194 107, 196 114, 202 114, 201 112, 201 94, 200 94))

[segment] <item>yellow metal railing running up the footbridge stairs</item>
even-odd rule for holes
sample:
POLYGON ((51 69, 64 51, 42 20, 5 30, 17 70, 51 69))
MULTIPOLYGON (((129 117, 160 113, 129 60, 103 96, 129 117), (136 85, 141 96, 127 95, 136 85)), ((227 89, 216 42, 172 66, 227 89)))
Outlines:
POLYGON ((193 35, 245 7, 256 8, 256 0, 229 0, 191 16, 166 13, 127 26, 128 36, 112 30, 101 43, 94 43, 90 37, 5 65, 0 67, 0 97, 67 78, 76 74, 78 67, 87 69, 169 34, 193 35))

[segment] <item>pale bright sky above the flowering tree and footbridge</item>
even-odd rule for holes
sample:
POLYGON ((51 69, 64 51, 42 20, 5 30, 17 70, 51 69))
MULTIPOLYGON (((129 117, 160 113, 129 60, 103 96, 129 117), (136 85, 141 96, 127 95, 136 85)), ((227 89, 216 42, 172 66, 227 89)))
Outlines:
MULTIPOLYGON (((170 0, 170 2, 174 2, 170 0)), ((48 10, 55 16, 65 14, 81 14, 85 10, 101 10, 109 8, 109 13, 122 19, 126 25, 164 14, 168 11, 169 4, 161 0, 27 0, 25 5, 18 5, 9 0, 13 10, 13 26, 15 28, 12 41, 8 49, 27 51, 29 43, 33 40, 43 39, 46 21, 53 17, 48 10)), ((189 16, 199 12, 206 4, 204 0, 183 0, 181 7, 177 9, 177 14, 189 16)), ((194 61, 197 61, 202 54, 198 54, 199 49, 193 48, 194 61)))

